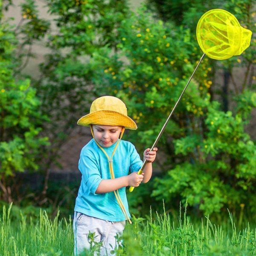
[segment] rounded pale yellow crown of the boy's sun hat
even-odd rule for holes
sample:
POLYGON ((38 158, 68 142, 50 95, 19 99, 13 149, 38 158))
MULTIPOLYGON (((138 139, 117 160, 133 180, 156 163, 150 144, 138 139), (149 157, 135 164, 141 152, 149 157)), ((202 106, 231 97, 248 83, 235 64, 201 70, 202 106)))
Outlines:
POLYGON ((113 96, 102 96, 94 100, 90 107, 90 113, 96 111, 115 111, 127 116, 125 103, 113 96))

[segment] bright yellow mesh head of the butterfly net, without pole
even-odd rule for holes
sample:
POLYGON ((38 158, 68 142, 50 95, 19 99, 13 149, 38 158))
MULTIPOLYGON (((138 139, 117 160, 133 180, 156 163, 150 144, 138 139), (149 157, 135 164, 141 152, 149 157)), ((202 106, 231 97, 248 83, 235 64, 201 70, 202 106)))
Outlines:
POLYGON ((223 9, 206 12, 196 28, 201 50, 216 60, 240 55, 249 47, 251 35, 252 32, 241 27, 234 15, 223 9))

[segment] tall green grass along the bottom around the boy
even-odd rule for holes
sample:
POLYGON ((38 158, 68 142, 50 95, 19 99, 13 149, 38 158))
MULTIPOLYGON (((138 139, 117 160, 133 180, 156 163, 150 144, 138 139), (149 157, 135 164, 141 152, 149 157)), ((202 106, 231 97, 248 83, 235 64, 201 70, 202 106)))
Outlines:
MULTIPOLYGON (((256 255, 256 230, 248 224, 243 230, 236 230, 230 214, 229 223, 221 226, 213 224, 209 218, 195 224, 186 217, 186 209, 175 224, 169 215, 156 214, 153 220, 133 218, 127 224, 122 237, 122 246, 116 248, 117 255, 256 255)), ((92 238, 93 240, 93 238, 92 238)), ((38 218, 20 212, 12 218, 12 205, 3 207, 0 215, 0 255, 1 256, 72 256, 72 220, 59 219, 58 215, 50 220, 45 211, 38 218)), ((90 252, 98 250, 96 244, 90 252)))

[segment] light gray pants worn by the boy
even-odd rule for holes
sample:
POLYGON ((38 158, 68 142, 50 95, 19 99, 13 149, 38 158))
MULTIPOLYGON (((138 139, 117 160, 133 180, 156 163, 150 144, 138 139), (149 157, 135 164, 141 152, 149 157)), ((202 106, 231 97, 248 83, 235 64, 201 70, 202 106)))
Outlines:
MULTIPOLYGON (((78 256, 85 248, 90 249, 88 239, 89 231, 95 232, 94 241, 102 241, 100 256, 111 256, 113 250, 118 244, 115 236, 122 234, 125 228, 125 221, 105 221, 99 218, 90 217, 81 212, 75 212, 73 221, 73 230, 75 238, 74 254, 78 256)), ((95 253, 97 255, 97 253, 95 253)))

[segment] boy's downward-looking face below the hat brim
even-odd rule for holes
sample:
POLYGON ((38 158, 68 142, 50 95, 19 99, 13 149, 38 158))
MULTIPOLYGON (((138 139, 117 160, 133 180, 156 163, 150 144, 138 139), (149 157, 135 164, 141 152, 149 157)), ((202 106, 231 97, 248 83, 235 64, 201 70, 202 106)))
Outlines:
POLYGON ((93 125, 94 139, 102 147, 108 148, 116 143, 121 130, 121 126, 93 125))

